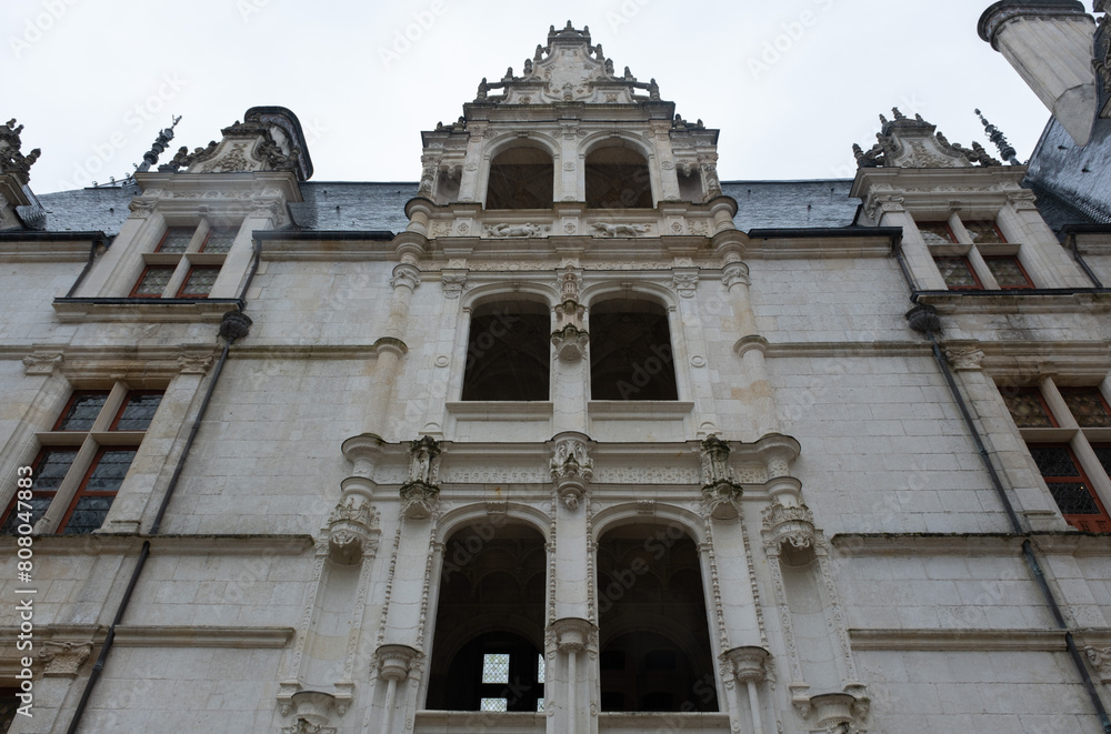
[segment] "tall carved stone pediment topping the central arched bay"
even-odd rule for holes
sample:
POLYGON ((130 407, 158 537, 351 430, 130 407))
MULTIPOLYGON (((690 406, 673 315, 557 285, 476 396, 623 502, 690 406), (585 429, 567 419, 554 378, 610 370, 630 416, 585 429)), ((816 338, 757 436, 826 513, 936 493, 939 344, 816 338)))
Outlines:
POLYGON ((660 88, 654 79, 647 83, 638 81, 628 67, 617 72, 601 44, 591 44, 590 28, 584 26, 580 31, 568 21, 562 30, 551 27, 548 46, 537 47, 536 54, 524 61, 520 77, 510 68, 498 82, 483 79, 474 102, 633 104, 659 99, 660 88), (498 94, 499 91, 502 93, 498 94))

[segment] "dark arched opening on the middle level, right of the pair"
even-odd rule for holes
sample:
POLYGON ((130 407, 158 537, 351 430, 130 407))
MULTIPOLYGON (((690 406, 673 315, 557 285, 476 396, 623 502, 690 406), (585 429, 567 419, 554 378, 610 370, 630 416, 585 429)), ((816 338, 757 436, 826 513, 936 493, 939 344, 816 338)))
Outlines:
POLYGON ((651 301, 590 309, 590 396, 679 400, 668 312, 651 301))

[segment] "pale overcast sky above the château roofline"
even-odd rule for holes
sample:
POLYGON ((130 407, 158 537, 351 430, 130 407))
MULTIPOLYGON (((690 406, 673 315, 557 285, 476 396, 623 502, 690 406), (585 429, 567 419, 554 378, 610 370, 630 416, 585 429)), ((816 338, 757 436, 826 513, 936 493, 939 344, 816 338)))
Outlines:
MULTIPOLYGON (((39 193, 122 178, 171 114, 180 145, 248 108, 301 120, 316 181, 414 181, 420 131, 482 77, 520 74, 551 24, 590 27, 619 72, 721 130, 722 179, 851 178, 878 114, 921 113, 988 143, 977 107, 1029 158, 1049 117, 977 37, 989 0, 3 0, 4 120, 26 125, 39 193)), ((1087 3, 1085 3, 1087 4, 1087 3)))

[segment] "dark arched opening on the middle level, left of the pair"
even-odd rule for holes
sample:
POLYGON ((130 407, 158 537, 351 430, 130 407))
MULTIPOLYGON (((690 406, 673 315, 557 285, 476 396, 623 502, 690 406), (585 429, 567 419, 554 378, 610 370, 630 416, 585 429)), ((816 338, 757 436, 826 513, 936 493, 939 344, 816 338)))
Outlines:
POLYGON ((474 309, 467 339, 463 400, 548 400, 551 316, 530 301, 474 309))

